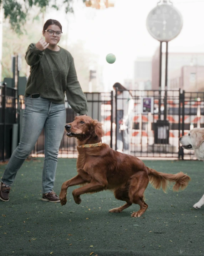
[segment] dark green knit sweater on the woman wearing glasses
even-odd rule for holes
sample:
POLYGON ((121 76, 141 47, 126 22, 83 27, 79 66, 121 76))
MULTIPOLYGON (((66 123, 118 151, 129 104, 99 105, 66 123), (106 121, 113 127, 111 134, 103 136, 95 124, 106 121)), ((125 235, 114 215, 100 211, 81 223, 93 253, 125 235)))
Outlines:
POLYGON ((58 52, 48 48, 41 51, 30 44, 25 59, 30 66, 25 96, 40 93, 53 103, 63 104, 66 92, 72 109, 80 115, 87 113, 87 100, 77 80, 73 57, 67 50, 60 47, 58 52))

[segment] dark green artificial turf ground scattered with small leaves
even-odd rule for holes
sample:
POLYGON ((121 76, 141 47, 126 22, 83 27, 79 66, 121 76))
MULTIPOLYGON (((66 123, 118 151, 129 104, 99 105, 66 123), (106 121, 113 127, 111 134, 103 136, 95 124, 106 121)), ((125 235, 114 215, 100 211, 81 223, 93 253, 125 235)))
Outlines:
MULTIPOLYGON (((41 201, 43 158, 25 161, 16 175, 10 201, 0 201, 0 256, 173 256, 204 255, 204 207, 193 204, 204 193, 202 161, 145 160, 165 173, 187 173, 192 181, 180 192, 145 191, 147 211, 139 218, 132 205, 122 213, 108 210, 124 204, 110 191, 81 195, 67 204, 41 201), (92 253, 93 252, 93 253, 92 253)), ((6 164, 0 165, 0 177, 6 164)), ((54 190, 76 175, 76 159, 58 159, 54 190)))

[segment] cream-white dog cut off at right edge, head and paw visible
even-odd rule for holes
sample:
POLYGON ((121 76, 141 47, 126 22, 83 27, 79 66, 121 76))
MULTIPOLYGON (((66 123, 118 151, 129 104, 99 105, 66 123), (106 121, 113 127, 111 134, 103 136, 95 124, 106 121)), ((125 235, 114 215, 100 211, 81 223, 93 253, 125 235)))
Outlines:
MULTIPOLYGON (((179 138, 184 149, 193 149, 198 160, 204 161, 204 128, 194 128, 185 136, 179 138)), ((195 209, 204 205, 204 195, 194 204, 195 209)))

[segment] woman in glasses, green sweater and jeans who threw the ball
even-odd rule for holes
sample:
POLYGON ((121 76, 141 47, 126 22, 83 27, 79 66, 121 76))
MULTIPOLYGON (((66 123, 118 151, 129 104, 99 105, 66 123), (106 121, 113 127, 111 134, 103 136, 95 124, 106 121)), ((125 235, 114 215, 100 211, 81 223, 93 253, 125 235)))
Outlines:
POLYGON ((25 110, 20 143, 11 155, 0 183, 0 199, 9 201, 11 184, 17 171, 45 130, 45 159, 42 171, 42 200, 60 202, 53 192, 57 156, 66 123, 65 92, 74 111, 86 115, 85 95, 77 80, 72 55, 57 44, 62 26, 57 20, 46 21, 41 37, 30 44, 25 59, 30 76, 25 90, 25 110))

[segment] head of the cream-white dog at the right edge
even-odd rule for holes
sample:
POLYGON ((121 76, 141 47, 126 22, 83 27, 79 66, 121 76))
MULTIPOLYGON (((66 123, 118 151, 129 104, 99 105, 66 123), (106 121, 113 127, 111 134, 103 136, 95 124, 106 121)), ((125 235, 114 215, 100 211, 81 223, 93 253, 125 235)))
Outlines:
POLYGON ((179 140, 184 149, 198 149, 204 141, 204 128, 193 128, 179 140))

